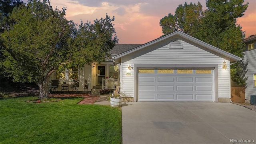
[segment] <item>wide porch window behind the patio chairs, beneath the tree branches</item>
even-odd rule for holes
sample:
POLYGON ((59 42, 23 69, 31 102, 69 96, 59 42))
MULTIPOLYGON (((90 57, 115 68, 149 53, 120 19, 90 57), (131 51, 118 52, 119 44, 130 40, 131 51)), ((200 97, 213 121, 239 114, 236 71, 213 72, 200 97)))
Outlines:
POLYGON ((77 80, 78 68, 66 69, 64 72, 55 72, 56 80, 77 80))

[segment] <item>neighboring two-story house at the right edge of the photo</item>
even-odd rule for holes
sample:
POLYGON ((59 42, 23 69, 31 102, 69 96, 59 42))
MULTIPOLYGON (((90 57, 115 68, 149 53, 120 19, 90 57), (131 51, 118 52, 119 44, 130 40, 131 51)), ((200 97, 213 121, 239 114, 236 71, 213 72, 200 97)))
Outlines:
MULTIPOLYGON (((245 88, 245 100, 250 100, 250 95, 256 95, 256 34, 249 36, 242 41, 245 44, 243 61, 248 60, 248 77, 245 88)), ((248 101, 247 101, 248 102, 248 101)))

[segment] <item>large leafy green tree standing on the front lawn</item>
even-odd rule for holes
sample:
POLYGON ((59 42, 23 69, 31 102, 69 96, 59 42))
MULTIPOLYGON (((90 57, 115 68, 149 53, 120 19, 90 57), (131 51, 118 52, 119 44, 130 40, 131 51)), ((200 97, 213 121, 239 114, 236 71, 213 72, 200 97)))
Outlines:
POLYGON ((81 24, 66 20, 65 9, 53 9, 50 1, 29 0, 14 8, 15 23, 1 34, 1 63, 14 82, 36 82, 40 98, 48 98, 50 75, 69 66, 103 62, 118 39, 114 18, 81 24), (114 34, 114 36, 113 36, 114 34), (103 52, 103 53, 100 53, 103 52))

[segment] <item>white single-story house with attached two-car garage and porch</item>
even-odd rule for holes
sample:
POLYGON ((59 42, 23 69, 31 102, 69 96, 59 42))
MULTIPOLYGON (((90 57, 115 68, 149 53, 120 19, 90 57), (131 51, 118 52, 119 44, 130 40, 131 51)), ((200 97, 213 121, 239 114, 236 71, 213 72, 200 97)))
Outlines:
POLYGON ((124 101, 230 102, 230 63, 240 60, 180 31, 111 52, 106 62, 78 69, 79 91, 85 79, 93 91, 118 77, 124 101))

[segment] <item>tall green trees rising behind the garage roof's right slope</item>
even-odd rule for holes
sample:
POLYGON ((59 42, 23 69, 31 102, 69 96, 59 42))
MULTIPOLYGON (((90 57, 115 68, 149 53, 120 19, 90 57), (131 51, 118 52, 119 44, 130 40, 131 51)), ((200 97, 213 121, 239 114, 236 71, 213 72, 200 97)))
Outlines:
MULTIPOLYGON (((204 12, 200 11, 201 9, 196 9, 201 6, 199 2, 197 7, 195 4, 187 5, 185 3, 184 6, 178 6, 174 16, 169 14, 162 18, 160 26, 165 35, 175 30, 181 30, 212 46, 243 58, 244 32, 242 32, 241 26, 236 25, 236 18, 242 17, 248 7, 248 3, 243 4, 243 2, 244 0, 206 0, 208 9, 204 12), (188 7, 190 8, 188 9, 188 7), (190 9, 192 15, 187 16, 187 11, 190 9), (199 13, 197 14, 197 12, 199 13)), ((238 62, 231 67, 231 78, 240 85, 245 85, 246 81, 244 74, 240 72, 241 66, 244 65, 238 62)))

